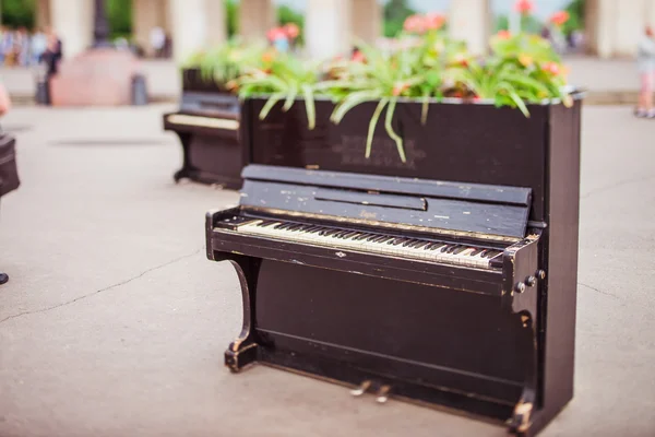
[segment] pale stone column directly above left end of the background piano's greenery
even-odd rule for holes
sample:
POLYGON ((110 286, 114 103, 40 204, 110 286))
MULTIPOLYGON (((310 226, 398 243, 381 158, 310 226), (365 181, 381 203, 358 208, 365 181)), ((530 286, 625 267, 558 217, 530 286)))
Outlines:
POLYGON ((169 0, 168 4, 172 27, 172 58, 176 62, 183 62, 202 49, 207 40, 206 1, 169 0))

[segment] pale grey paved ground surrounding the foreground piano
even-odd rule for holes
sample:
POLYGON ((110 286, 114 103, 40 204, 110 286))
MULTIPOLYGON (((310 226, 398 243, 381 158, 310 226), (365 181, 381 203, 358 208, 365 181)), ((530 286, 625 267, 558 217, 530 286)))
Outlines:
MULTIPOLYGON (((171 181, 164 106, 15 108, 2 199, 0 436, 503 436, 254 367, 230 375, 237 277, 205 259, 234 192, 171 181), (103 144, 106 142, 107 144, 103 144)), ((544 436, 655 435, 655 121, 584 109, 575 399, 544 436)))

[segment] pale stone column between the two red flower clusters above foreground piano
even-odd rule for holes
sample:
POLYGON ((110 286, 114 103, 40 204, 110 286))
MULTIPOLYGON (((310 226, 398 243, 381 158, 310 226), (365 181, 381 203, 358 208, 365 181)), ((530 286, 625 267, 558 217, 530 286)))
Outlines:
POLYGON ((465 40, 473 55, 488 51, 491 35, 489 0, 451 0, 448 28, 451 37, 465 40))

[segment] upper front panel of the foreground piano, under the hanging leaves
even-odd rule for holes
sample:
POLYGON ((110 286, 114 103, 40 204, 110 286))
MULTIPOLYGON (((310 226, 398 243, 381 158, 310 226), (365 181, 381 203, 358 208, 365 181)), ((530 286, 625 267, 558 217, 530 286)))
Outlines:
POLYGON ((531 220, 545 217, 545 172, 549 108, 532 105, 525 118, 513 108, 487 105, 430 105, 420 123, 419 103, 396 106, 394 129, 405 139, 407 162, 378 123, 370 158, 365 157, 366 129, 376 103, 364 103, 340 122, 330 121, 333 106, 317 102, 317 127, 307 129, 302 104, 288 113, 258 115, 265 101, 247 101, 242 129, 252 163, 324 170, 531 187, 531 220), (507 129, 498 129, 507 126, 507 129), (493 127, 493 129, 490 129, 493 127))

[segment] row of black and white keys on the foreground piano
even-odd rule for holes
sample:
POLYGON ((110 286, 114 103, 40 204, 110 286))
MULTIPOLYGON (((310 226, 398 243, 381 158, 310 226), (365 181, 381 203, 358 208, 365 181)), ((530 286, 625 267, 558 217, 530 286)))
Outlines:
POLYGON ((481 269, 490 269, 491 259, 502 256, 502 250, 497 249, 273 220, 247 222, 239 225, 237 232, 331 248, 353 249, 481 269))

